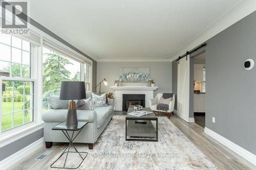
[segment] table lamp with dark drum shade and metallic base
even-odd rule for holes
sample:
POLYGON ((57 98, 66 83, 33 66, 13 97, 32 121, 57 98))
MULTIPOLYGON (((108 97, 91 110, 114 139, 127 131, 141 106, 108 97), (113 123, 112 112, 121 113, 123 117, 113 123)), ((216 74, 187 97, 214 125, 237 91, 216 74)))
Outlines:
POLYGON ((69 100, 66 126, 77 126, 76 103, 74 100, 86 99, 86 85, 84 82, 61 82, 59 100, 69 100))

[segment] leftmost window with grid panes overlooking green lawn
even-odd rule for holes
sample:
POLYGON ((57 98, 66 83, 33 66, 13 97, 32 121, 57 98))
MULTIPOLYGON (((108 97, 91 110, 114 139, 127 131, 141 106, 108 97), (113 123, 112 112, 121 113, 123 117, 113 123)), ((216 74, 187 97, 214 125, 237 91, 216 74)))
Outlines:
POLYGON ((0 35, 1 132, 34 120, 31 49, 32 44, 24 39, 0 35))

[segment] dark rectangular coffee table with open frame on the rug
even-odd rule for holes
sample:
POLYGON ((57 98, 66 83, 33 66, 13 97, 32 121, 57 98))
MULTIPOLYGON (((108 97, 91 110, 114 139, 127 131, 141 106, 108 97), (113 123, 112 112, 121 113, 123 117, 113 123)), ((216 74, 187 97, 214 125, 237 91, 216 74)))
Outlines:
MULTIPOLYGON (((143 108, 142 110, 153 112, 150 108, 143 108)), ((129 107, 125 117, 125 140, 158 141, 158 117, 155 113, 153 112, 152 114, 138 117, 129 114, 133 111, 133 107, 129 107), (136 123, 136 120, 146 120, 146 122, 136 123), (154 128, 152 121, 156 121, 156 129, 154 128), (129 136, 130 138, 128 138, 129 136)))

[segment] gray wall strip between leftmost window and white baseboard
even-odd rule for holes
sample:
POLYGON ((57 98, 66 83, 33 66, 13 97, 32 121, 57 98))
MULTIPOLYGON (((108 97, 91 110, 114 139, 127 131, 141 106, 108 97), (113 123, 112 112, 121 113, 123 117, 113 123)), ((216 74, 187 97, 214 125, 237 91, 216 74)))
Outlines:
POLYGON ((42 138, 44 136, 44 130, 40 129, 26 137, 23 137, 19 140, 16 140, 3 148, 0 148, 0 161, 15 154, 17 151, 22 150, 23 148, 27 147, 27 145, 33 143, 34 141, 42 138))

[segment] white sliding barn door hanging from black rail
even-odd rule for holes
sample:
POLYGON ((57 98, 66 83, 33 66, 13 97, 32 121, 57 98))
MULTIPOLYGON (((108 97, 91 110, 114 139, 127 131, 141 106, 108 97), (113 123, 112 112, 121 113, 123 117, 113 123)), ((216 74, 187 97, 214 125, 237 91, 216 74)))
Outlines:
POLYGON ((178 61, 177 115, 189 122, 189 55, 178 61))

